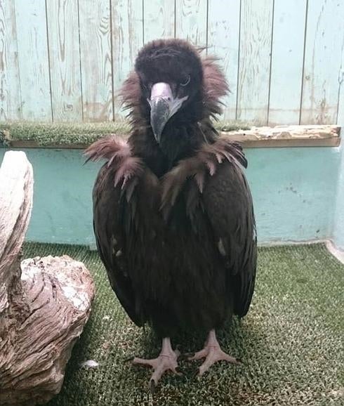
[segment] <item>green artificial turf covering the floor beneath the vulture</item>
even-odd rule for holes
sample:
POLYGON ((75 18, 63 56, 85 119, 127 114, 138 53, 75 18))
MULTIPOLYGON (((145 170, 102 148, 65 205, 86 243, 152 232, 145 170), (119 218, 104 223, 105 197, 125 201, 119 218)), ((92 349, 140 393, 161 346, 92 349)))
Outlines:
MULTIPOLYGON (((218 335, 243 365, 218 363, 201 378, 199 362, 180 361, 154 395, 150 370, 126 358, 157 356, 150 329, 135 327, 115 299, 98 255, 85 247, 26 244, 24 255, 69 254, 94 276, 93 312, 67 367, 62 391, 49 406, 344 405, 344 266, 321 244, 260 248, 249 314, 218 335), (80 368, 95 360, 96 369, 80 368)), ((182 352, 204 337, 178 337, 182 352)))

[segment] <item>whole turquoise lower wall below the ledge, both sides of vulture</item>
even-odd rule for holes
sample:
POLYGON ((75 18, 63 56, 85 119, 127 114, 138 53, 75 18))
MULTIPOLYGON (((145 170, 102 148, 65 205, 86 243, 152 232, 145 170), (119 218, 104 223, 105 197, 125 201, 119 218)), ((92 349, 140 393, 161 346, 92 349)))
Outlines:
MULTIPOLYGON (((91 244, 91 191, 100 164, 84 165, 81 150, 25 152, 34 167, 27 240, 91 244)), ((339 148, 252 148, 246 155, 260 244, 333 235, 339 148)))

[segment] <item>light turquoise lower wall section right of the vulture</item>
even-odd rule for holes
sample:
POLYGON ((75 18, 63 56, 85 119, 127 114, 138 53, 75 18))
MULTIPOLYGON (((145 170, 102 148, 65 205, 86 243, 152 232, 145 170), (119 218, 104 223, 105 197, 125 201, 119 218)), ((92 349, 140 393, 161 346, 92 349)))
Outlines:
POLYGON ((260 243, 331 235, 338 148, 246 150, 260 243))

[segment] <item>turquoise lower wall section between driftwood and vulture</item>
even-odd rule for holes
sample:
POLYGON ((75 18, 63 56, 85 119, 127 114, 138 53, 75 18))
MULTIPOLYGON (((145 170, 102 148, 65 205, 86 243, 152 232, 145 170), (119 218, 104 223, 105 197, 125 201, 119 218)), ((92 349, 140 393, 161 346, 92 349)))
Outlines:
MULTIPOLYGON (((24 151, 34 169, 34 206, 27 240, 93 242, 91 192, 97 165, 84 166, 81 150, 24 151)), ((0 149, 0 161, 3 156, 4 149, 0 149)))

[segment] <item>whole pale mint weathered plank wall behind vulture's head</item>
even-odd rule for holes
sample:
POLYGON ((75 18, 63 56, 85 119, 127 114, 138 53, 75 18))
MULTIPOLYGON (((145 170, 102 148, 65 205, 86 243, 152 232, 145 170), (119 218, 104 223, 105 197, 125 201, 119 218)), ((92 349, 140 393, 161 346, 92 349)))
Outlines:
POLYGON ((220 56, 226 119, 344 114, 343 0, 0 0, 0 120, 116 119, 138 49, 159 37, 220 56))

